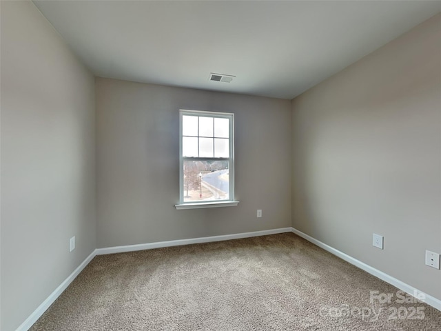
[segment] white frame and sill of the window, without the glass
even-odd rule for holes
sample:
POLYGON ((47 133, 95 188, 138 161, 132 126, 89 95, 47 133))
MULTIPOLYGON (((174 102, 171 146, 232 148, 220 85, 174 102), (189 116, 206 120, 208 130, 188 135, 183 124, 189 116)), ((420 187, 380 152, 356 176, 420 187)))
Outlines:
POLYGON ((234 114, 229 112, 207 112, 202 110, 179 110, 179 203, 176 209, 214 208, 238 205, 234 200, 234 114), (229 119, 229 157, 183 157, 183 116, 198 116, 229 119), (184 161, 224 160, 229 161, 229 199, 215 201, 184 201, 184 161))

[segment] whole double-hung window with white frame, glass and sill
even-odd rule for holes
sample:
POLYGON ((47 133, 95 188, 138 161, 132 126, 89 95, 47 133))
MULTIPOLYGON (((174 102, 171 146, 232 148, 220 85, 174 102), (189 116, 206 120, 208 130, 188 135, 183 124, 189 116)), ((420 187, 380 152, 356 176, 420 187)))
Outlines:
POLYGON ((234 201, 234 114, 180 110, 180 202, 177 209, 234 201))

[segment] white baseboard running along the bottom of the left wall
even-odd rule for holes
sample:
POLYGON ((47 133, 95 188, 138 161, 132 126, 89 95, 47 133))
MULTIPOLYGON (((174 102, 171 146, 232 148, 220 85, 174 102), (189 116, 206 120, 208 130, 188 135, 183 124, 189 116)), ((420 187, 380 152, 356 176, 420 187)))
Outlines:
POLYGON ((85 266, 88 265, 90 261, 92 261, 95 255, 96 253, 95 251, 93 251, 88 257, 86 257, 86 259, 78 266, 78 268, 76 268, 74 272, 72 272, 72 274, 70 274, 69 277, 66 278, 65 281, 63 281, 63 283, 61 283, 59 287, 56 288, 54 292, 52 292, 50 296, 45 299, 45 301, 43 301, 43 303, 41 303, 41 305, 39 305, 39 307, 34 310, 34 312, 32 312, 32 314, 30 314, 30 316, 23 323, 21 323, 16 331, 28 331, 29 328, 37 321, 37 319, 41 317, 43 312, 45 312, 49 308, 49 306, 52 305, 55 300, 57 300, 60 294, 63 293, 66 288, 68 288, 69 284, 72 283, 72 281, 76 278, 76 276, 79 275, 79 273, 85 268, 85 266))

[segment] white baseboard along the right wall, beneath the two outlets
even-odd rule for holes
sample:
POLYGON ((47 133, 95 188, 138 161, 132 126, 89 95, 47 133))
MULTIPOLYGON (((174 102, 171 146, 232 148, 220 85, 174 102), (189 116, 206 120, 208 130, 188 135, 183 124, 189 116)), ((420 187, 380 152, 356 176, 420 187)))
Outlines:
POLYGON ((349 256, 348 254, 345 254, 343 252, 340 252, 340 250, 336 250, 335 248, 332 248, 331 246, 327 245, 326 243, 322 243, 321 241, 309 236, 308 234, 305 234, 295 228, 292 228, 292 232, 295 234, 298 234, 298 236, 306 239, 307 241, 314 243, 314 245, 317 245, 320 248, 323 248, 324 250, 327 250, 331 254, 336 255, 336 257, 340 257, 340 259, 343 259, 356 267, 365 270, 366 272, 369 272, 369 274, 372 274, 373 276, 382 279, 383 281, 386 281, 387 283, 395 286, 396 288, 399 288, 400 290, 403 290, 404 292, 411 294, 412 296, 415 296, 416 294, 419 296, 420 294, 424 295, 425 299, 424 302, 428 305, 431 305, 433 308, 441 310, 441 300, 437 299, 435 297, 432 297, 431 295, 424 293, 416 288, 414 288, 411 285, 408 285, 407 283, 404 283, 400 281, 399 279, 396 279, 392 276, 389 276, 389 274, 386 274, 376 268, 371 267, 370 265, 367 265, 366 263, 363 263, 362 261, 359 261, 358 259, 354 259, 353 257, 349 256))

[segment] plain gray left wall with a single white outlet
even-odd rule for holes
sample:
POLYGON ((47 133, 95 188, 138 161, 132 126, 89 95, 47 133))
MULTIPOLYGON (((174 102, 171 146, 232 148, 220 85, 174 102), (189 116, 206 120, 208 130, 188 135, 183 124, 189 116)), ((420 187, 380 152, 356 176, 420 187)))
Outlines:
POLYGON ((32 2, 1 1, 1 330, 96 247, 94 116, 92 74, 32 2))

